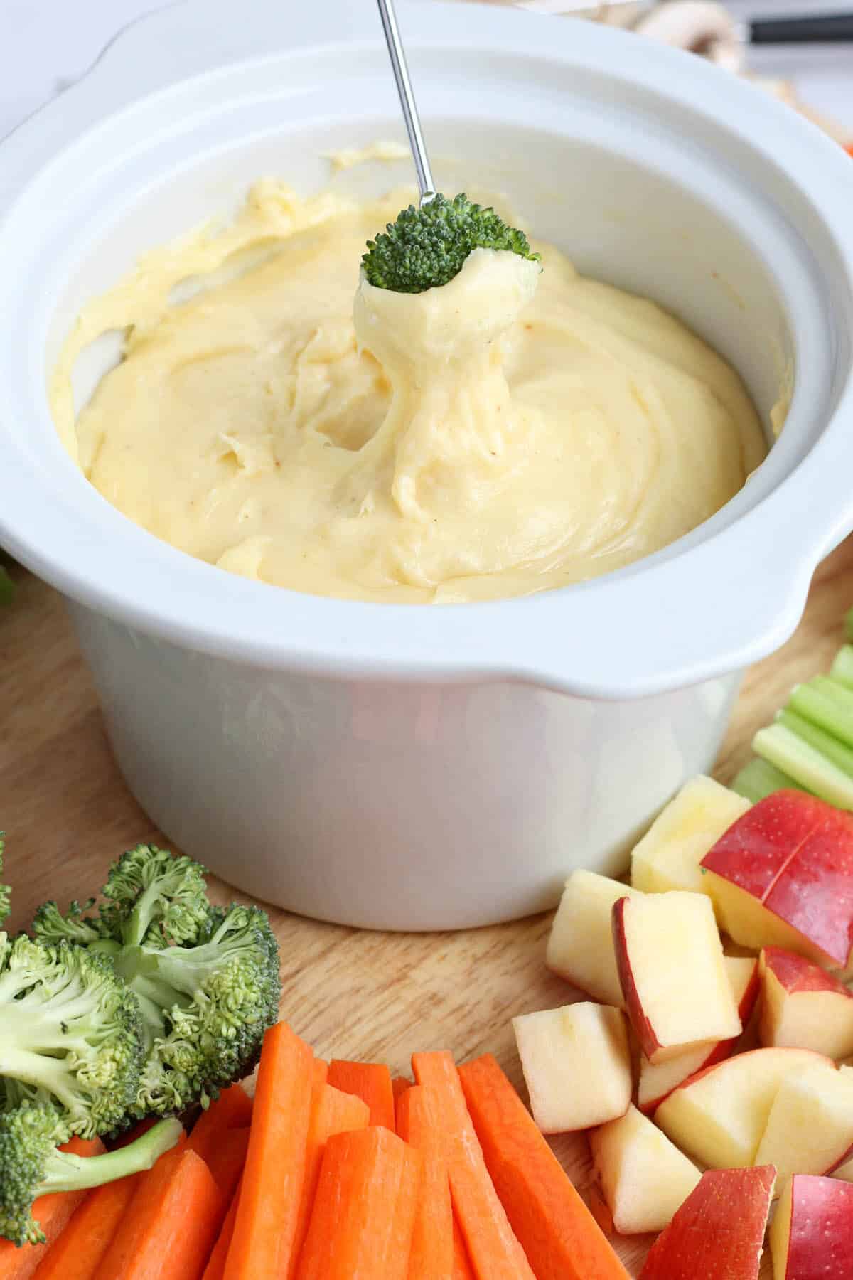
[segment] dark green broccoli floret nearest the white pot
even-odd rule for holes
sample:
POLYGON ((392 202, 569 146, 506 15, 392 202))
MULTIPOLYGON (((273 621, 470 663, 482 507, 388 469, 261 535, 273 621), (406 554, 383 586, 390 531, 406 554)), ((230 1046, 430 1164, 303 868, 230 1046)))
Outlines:
MULTIPOLYGON (((139 845, 111 868, 97 915, 55 902, 36 936, 109 956, 136 995, 146 1060, 130 1116, 206 1106, 257 1062, 279 1016, 279 948, 260 908, 207 900, 205 868, 139 845)), ((91 904, 90 904, 91 905, 91 904)))

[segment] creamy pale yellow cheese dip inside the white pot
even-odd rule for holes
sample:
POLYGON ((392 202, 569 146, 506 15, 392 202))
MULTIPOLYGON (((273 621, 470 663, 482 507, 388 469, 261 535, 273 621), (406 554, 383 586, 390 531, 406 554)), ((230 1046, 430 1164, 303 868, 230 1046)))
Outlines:
POLYGON ((734 370, 556 248, 535 244, 542 269, 477 250, 421 294, 359 282, 411 198, 265 182, 93 301, 51 385, 91 483, 234 573, 412 603, 595 577, 740 489, 765 442, 734 370), (77 356, 116 328, 124 358, 75 415, 77 356))

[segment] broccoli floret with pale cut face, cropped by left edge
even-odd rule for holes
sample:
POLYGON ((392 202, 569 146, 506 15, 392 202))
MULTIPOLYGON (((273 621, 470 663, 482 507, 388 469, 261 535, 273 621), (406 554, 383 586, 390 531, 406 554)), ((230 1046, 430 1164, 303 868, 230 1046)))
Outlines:
POLYGON ((145 1044, 139 1005, 106 956, 0 934, 0 1102, 50 1101, 72 1134, 121 1124, 145 1044))

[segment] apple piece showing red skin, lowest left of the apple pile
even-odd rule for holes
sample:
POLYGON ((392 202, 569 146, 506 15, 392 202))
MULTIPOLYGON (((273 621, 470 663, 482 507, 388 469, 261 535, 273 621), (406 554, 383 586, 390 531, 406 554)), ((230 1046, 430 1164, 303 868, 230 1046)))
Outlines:
POLYGON ((774 1181, 772 1166, 702 1174, 639 1280, 758 1280, 774 1181))

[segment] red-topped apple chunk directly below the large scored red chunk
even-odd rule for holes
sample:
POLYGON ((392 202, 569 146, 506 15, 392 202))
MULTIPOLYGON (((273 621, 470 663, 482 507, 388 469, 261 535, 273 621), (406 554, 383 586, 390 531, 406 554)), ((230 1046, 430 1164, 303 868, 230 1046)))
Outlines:
POLYGON ((765 947, 758 1037, 762 1044, 848 1057, 853 1053, 853 993, 803 956, 765 947))

